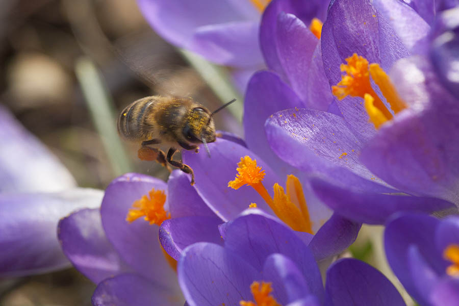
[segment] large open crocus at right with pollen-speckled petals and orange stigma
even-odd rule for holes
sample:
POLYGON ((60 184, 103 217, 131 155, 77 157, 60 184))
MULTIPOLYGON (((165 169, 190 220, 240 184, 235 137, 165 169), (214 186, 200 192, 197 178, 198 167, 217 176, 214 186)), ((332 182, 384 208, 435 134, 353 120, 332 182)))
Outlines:
MULTIPOLYGON (((308 30, 304 25, 290 28, 297 36, 308 30)), ((333 103, 327 111, 290 104, 287 107, 292 109, 266 121, 267 139, 276 155, 311 175, 316 173, 311 184, 317 196, 347 218, 381 224, 396 211, 432 212, 457 202, 457 159, 453 158, 457 140, 449 137, 459 135, 453 124, 458 121, 457 103, 444 90, 438 91, 442 87, 437 86, 431 68, 423 71, 413 65, 415 58, 394 65, 414 50, 424 50, 428 30, 411 7, 398 1, 335 1, 320 39, 326 79, 336 96, 333 103), (400 12, 403 18, 397 15, 400 12), (389 78, 384 70, 392 66, 389 78), (415 95, 421 89, 424 103, 415 95), (430 103, 433 100, 445 101, 445 107, 430 103), (445 110, 448 114, 443 114, 445 110), (437 121, 445 116, 448 120, 437 121), (400 192, 414 196, 394 194, 400 192)), ((295 46, 292 43, 290 50, 298 55, 291 53, 290 61, 301 59, 295 46)), ((254 76, 258 80, 247 89, 246 103, 252 110, 247 118, 256 117, 256 110, 267 101, 277 100, 279 105, 282 97, 290 103, 304 100, 278 77, 261 75, 254 76), (277 92, 271 94, 275 100, 263 91, 266 86, 277 92)), ((311 75, 304 79, 310 80, 311 75)), ((321 74, 317 79, 322 79, 321 74)), ((251 121, 245 129, 254 134, 256 129, 248 128, 251 121)))

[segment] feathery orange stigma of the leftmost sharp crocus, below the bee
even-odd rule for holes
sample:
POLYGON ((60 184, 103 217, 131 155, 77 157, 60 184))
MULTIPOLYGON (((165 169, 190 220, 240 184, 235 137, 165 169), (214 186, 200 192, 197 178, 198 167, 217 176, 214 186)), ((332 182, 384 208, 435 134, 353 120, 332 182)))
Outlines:
POLYGON ((127 222, 131 223, 144 217, 145 221, 149 221, 150 224, 161 225, 164 220, 170 219, 170 213, 164 210, 164 203, 166 202, 164 191, 152 188, 148 192, 148 196, 143 195, 142 198, 134 201, 133 208, 127 213, 127 222))

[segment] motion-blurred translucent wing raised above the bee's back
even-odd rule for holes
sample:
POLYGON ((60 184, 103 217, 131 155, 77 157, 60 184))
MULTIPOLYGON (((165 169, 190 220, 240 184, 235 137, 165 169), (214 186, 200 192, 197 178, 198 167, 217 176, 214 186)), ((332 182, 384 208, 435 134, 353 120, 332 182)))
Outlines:
POLYGON ((151 29, 119 38, 113 46, 120 60, 157 94, 189 96, 203 86, 176 50, 151 29))

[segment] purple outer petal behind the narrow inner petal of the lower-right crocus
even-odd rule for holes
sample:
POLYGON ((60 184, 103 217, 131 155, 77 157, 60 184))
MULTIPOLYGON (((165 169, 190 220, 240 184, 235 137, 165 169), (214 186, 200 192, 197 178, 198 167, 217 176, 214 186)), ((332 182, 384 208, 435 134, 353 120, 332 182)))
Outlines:
POLYGON ((440 222, 426 215, 403 214, 390 221, 384 232, 384 248, 389 265, 406 291, 416 300, 421 300, 422 297, 413 282, 410 269, 406 268, 410 266, 409 250, 415 245, 427 265, 438 275, 442 275, 447 263, 441 258, 435 245, 435 234, 440 222))

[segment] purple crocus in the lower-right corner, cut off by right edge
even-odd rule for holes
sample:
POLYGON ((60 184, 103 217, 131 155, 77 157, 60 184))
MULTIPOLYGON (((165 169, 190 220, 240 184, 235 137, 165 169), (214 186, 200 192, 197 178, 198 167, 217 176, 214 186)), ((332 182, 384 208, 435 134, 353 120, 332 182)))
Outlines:
POLYGON ((384 244, 392 270, 419 304, 457 305, 459 217, 397 215, 386 226, 384 244))

